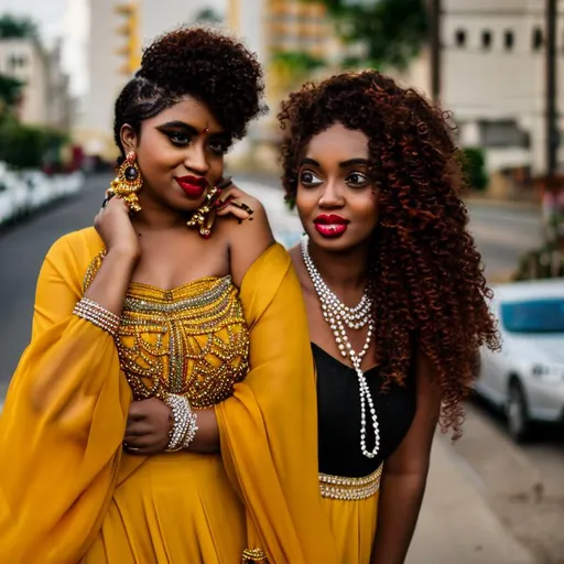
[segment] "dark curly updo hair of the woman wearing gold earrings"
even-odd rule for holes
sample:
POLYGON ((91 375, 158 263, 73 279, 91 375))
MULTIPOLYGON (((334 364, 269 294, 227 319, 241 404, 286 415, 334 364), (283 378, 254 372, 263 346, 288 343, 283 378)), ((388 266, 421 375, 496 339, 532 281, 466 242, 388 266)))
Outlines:
POLYGON ((141 68, 116 101, 113 139, 124 156, 120 130, 137 133, 184 96, 204 102, 230 135, 241 139, 260 116, 264 84, 254 53, 238 41, 207 28, 180 28, 158 37, 144 51, 141 68))

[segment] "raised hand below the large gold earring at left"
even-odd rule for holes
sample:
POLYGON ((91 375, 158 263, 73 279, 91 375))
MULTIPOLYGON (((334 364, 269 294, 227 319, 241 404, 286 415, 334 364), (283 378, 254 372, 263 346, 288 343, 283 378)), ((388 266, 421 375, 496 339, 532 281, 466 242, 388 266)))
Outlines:
POLYGON ((139 259, 141 246, 129 213, 129 207, 123 199, 112 197, 94 218, 94 227, 108 253, 117 251, 131 259, 139 259))

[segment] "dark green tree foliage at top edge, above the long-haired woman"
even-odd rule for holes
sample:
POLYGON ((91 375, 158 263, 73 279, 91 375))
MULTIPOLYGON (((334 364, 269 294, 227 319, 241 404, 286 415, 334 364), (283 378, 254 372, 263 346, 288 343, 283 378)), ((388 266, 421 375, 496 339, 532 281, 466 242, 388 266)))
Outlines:
POLYGON ((345 44, 364 47, 364 56, 345 57, 346 66, 405 68, 427 41, 425 0, 321 1, 345 44))

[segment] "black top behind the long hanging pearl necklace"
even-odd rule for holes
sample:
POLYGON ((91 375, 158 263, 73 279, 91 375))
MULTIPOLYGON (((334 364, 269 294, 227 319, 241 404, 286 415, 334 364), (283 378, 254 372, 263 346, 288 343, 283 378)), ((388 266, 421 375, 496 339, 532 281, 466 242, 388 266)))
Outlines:
MULTIPOLYGON (((368 476, 398 448, 415 416, 413 370, 404 386, 392 383, 381 393, 378 368, 365 372, 380 425, 380 451, 375 458, 360 452, 360 399, 352 368, 312 343, 317 369, 317 429, 319 471, 334 476, 368 476)), ((367 448, 373 447, 373 429, 367 410, 367 448)))

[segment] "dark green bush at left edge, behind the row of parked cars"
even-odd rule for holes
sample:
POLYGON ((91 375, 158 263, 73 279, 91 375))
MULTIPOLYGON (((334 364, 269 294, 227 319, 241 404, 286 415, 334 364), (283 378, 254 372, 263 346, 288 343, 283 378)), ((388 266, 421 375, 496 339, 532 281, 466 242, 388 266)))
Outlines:
POLYGON ((0 121, 0 161, 15 169, 41 169, 59 161, 65 133, 52 129, 23 126, 4 117, 0 121))

